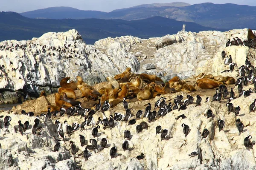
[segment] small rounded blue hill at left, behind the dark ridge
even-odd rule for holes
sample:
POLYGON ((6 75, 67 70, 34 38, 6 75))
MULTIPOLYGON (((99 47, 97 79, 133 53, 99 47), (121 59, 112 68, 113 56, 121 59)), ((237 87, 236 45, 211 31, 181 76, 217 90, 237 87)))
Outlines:
POLYGON ((35 11, 28 11, 20 13, 24 17, 28 18, 44 18, 44 19, 84 19, 84 18, 99 18, 106 14, 102 11, 83 11, 71 7, 51 7, 45 9, 38 9, 35 11))

